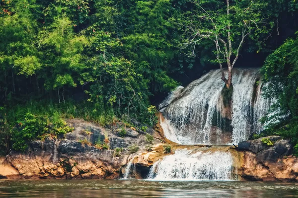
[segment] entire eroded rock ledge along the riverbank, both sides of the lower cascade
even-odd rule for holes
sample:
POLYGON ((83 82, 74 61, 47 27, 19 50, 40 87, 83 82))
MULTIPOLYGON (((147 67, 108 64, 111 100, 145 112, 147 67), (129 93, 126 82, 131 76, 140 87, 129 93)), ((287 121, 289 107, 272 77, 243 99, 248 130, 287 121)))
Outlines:
POLYGON ((263 138, 244 141, 237 149, 217 145, 179 145, 164 139, 162 134, 150 129, 154 136, 152 151, 147 151, 145 133, 126 129, 127 135, 119 137, 117 130, 96 126, 82 120, 71 120, 74 131, 65 139, 34 141, 25 153, 11 151, 0 157, 0 179, 119 179, 129 161, 134 164, 132 177, 144 179, 154 162, 179 149, 193 152, 230 152, 233 158, 233 173, 238 180, 298 182, 298 159, 292 156, 293 147, 289 140, 279 136, 266 137, 274 144, 268 146, 263 138), (83 133, 88 129, 91 133, 83 133), (94 143, 108 136, 110 150, 97 149, 94 143), (87 139, 91 145, 80 140, 87 139), (172 152, 163 150, 163 142, 172 145, 172 152), (129 145, 137 144, 139 151, 131 153, 129 145), (123 148, 120 156, 115 148, 123 148))

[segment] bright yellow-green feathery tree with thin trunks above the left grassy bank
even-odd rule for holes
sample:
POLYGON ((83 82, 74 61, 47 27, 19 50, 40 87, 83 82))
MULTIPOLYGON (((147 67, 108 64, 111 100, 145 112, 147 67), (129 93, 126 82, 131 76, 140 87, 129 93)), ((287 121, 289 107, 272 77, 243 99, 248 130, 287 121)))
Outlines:
POLYGON ((57 90, 59 103, 65 101, 65 87, 76 87, 78 76, 84 69, 82 51, 88 40, 83 35, 74 34, 73 24, 67 17, 58 17, 46 30, 41 31, 40 48, 46 57, 44 62, 48 76, 45 76, 45 88, 57 90))

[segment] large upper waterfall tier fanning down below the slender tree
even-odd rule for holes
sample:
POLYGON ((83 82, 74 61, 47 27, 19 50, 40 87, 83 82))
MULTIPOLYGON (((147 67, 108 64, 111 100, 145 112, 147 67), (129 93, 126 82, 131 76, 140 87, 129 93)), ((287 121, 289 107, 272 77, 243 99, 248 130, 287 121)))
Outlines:
POLYGON ((224 106, 221 70, 213 70, 186 88, 171 92, 159 106, 165 136, 181 144, 227 144, 259 133, 270 106, 261 96, 258 69, 233 69, 230 106, 224 106))

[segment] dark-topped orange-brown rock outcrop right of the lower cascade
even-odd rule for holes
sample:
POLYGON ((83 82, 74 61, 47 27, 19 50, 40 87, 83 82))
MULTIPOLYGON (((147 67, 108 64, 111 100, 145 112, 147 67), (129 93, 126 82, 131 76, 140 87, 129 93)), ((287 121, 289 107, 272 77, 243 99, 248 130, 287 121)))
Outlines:
POLYGON ((274 142, 273 146, 262 143, 263 138, 238 144, 238 149, 244 151, 238 175, 244 180, 297 182, 298 159, 290 155, 290 141, 279 136, 265 138, 274 142))

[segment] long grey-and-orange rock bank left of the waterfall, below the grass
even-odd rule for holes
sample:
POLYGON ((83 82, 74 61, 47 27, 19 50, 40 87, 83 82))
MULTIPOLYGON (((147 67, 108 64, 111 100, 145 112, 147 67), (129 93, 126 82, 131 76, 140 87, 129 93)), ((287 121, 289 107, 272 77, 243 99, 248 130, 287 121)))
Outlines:
MULTIPOLYGON (((74 131, 67 133, 64 139, 33 141, 24 153, 11 151, 1 157, 0 178, 117 179, 131 155, 128 147, 136 144, 139 153, 146 150, 145 135, 133 129, 125 129, 128 135, 119 137, 116 130, 113 132, 83 120, 73 119, 68 123, 74 131), (108 139, 109 150, 97 149, 95 144, 105 139, 108 139), (117 147, 123 151, 116 155, 113 149, 117 147)), ((160 141, 154 138, 153 142, 160 141)))

